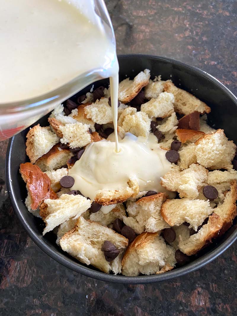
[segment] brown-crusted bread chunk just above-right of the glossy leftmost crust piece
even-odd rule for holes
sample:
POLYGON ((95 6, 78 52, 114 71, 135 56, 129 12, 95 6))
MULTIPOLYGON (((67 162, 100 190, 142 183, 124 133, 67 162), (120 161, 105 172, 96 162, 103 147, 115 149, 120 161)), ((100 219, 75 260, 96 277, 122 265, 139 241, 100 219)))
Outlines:
POLYGON ((47 154, 35 161, 35 165, 40 167, 43 172, 51 171, 66 165, 72 156, 73 154, 69 149, 61 149, 59 144, 56 144, 47 154))

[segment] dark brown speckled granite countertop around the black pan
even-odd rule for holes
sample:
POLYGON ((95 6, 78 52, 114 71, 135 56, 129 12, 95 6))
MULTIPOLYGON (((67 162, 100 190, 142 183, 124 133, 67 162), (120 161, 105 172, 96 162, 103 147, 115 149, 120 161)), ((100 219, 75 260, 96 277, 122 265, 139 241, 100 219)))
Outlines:
MULTIPOLYGON (((237 2, 106 0, 118 53, 181 60, 237 94, 237 2)), ((0 314, 2 316, 236 315, 237 246, 204 268, 163 283, 122 285, 73 272, 27 236, 6 192, 0 144, 0 314)))

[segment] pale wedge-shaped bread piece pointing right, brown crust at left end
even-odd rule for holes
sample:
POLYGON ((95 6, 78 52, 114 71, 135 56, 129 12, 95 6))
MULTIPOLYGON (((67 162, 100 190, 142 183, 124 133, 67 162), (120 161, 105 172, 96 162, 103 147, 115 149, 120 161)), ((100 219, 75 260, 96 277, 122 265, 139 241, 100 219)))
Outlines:
POLYGON ((79 217, 90 205, 91 201, 79 194, 62 194, 57 200, 45 199, 40 205, 40 216, 46 223, 43 235, 71 217, 79 217))

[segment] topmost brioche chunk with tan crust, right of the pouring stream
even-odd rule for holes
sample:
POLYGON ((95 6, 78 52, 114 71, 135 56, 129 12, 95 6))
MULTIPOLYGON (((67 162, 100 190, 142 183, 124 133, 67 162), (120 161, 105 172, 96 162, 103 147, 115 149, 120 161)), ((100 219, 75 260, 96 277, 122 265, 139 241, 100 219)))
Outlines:
POLYGON ((119 83, 119 101, 128 103, 149 83, 150 70, 141 71, 133 80, 129 78, 119 83))

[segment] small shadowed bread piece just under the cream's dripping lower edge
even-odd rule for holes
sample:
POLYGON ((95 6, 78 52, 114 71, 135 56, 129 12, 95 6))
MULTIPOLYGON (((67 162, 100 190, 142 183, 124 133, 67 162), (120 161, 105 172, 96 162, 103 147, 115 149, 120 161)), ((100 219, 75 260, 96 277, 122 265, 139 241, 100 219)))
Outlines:
POLYGON ((98 222, 103 226, 108 226, 113 223, 116 218, 123 219, 125 216, 125 208, 123 204, 117 204, 114 209, 112 209, 109 213, 104 214, 101 210, 96 213, 90 214, 90 220, 93 222, 98 222))

